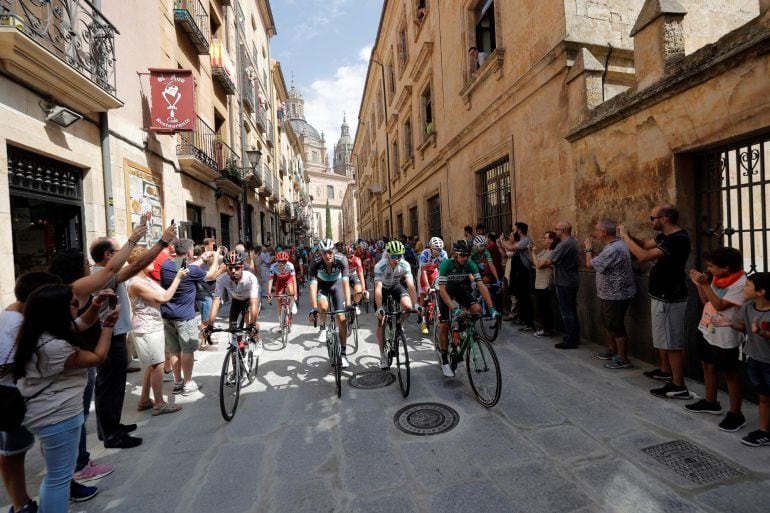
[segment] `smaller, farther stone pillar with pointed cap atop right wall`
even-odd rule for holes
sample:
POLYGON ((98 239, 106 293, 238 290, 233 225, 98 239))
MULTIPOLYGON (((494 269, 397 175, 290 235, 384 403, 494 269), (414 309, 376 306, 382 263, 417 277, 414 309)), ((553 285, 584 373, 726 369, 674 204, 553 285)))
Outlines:
POLYGON ((567 74, 570 127, 585 121, 589 111, 602 103, 602 73, 604 66, 587 48, 581 48, 567 74))

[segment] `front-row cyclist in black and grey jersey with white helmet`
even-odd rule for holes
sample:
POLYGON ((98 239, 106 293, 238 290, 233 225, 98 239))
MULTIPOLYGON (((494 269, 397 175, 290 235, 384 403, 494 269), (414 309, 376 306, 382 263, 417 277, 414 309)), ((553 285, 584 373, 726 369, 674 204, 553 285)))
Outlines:
MULTIPOLYGON (((318 340, 326 340, 326 315, 329 311, 329 299, 332 302, 332 310, 342 310, 345 305, 350 305, 350 281, 348 270, 348 259, 344 255, 335 253, 334 241, 324 239, 318 243, 320 256, 316 256, 310 262, 310 320, 322 315, 321 330, 318 333, 318 340), (320 312, 319 312, 320 311, 320 312)), ((339 326, 340 345, 342 346, 342 368, 347 369, 350 364, 345 357, 345 345, 348 338, 347 322, 345 314, 337 315, 337 326, 339 326)))

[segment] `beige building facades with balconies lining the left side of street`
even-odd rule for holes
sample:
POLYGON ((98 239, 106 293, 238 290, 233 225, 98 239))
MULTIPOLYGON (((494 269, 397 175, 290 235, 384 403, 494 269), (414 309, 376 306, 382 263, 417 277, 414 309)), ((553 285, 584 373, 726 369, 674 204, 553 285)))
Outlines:
POLYGON ((268 0, 38 4, 0 15, 0 254, 14 262, 0 269, 0 304, 57 248, 125 240, 145 208, 150 240, 171 219, 182 236, 230 247, 275 240, 293 186, 280 176, 268 0), (31 29, 35 17, 50 37, 31 29), (71 43, 54 37, 60 24, 71 43), (193 132, 148 130, 149 68, 192 71, 193 132), (83 119, 59 126, 69 112, 83 119))

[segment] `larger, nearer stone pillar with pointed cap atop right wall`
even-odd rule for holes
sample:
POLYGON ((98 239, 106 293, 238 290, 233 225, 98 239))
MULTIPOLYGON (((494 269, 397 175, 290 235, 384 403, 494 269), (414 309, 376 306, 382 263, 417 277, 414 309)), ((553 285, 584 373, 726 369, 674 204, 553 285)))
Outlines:
POLYGON ((677 0, 647 0, 642 6, 631 30, 637 90, 663 78, 666 65, 684 57, 682 19, 686 14, 677 0))

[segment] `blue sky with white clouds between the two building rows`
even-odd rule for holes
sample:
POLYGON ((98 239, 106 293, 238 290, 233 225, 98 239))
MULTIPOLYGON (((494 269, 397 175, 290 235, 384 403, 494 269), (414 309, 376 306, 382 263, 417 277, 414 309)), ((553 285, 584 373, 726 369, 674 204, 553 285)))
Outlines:
POLYGON ((281 61, 287 87, 294 73, 305 117, 325 132, 331 153, 343 111, 355 135, 382 0, 272 0, 270 7, 278 30, 272 57, 281 61))

